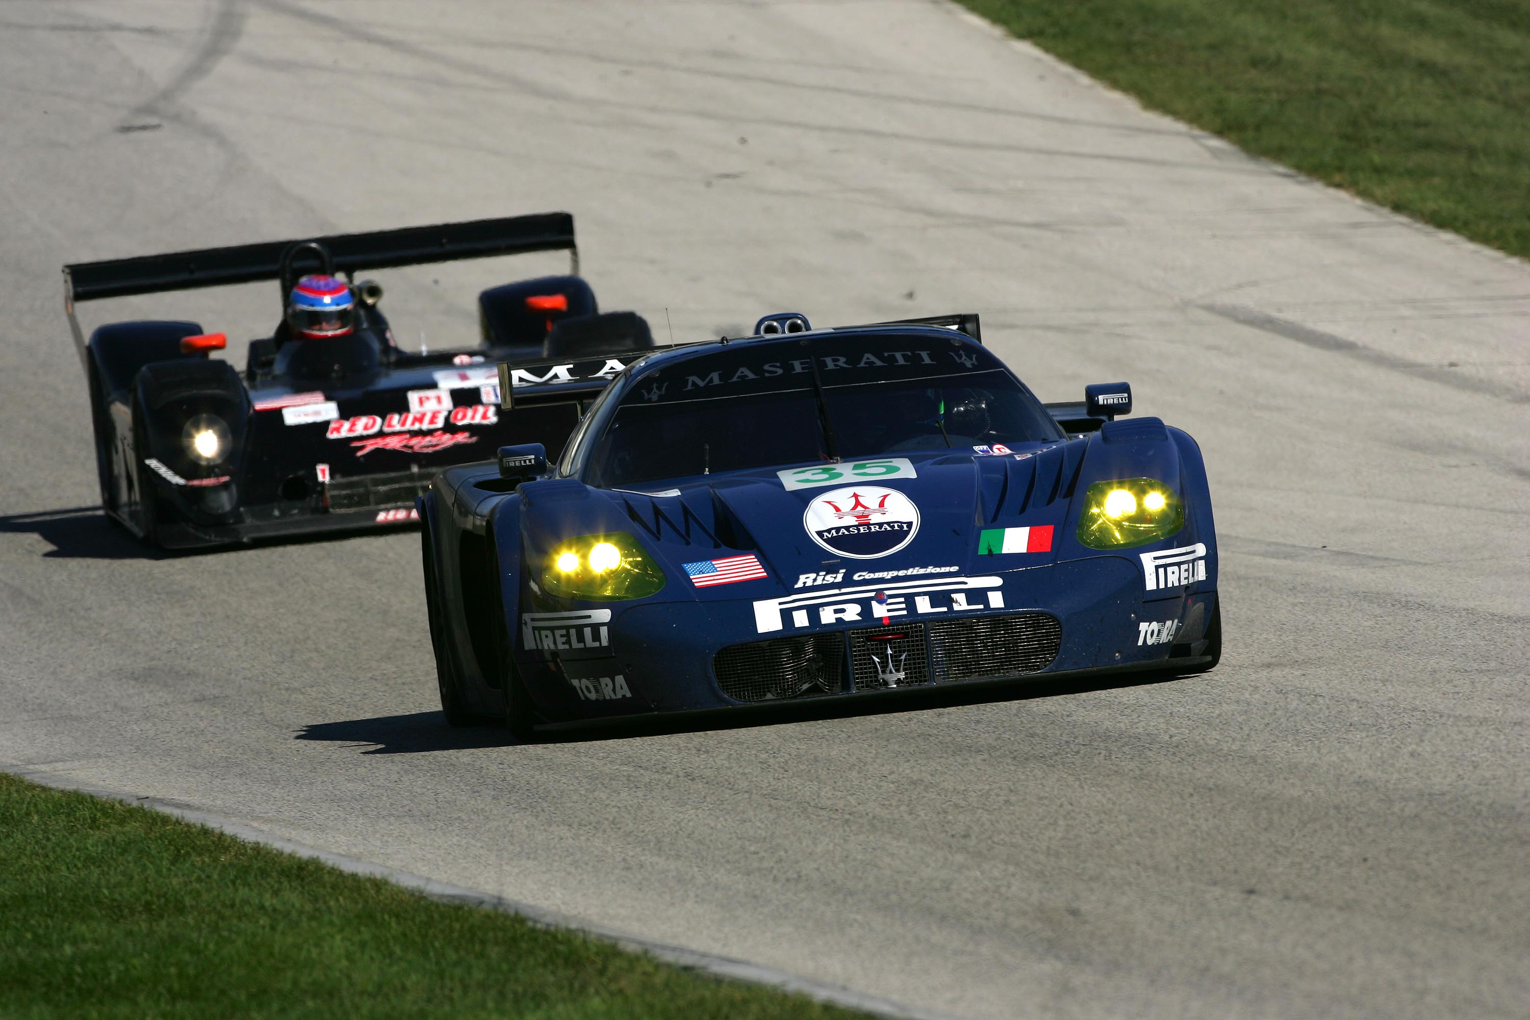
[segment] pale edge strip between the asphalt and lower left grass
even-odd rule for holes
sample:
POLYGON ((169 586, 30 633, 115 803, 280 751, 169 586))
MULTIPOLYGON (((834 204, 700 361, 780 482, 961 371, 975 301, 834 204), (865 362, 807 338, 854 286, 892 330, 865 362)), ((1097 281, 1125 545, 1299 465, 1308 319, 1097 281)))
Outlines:
POLYGON ((525 918, 534 925, 542 928, 560 928, 568 931, 578 931, 603 942, 612 942, 624 950, 633 953, 646 953, 667 963, 676 963, 690 970, 705 971, 718 977, 727 977, 733 980, 748 982, 751 985, 768 985, 771 988, 780 988, 785 991, 800 992, 814 999, 817 1002, 826 1002, 837 1006, 845 1006, 848 1009, 860 1009, 861 1012, 869 1012, 878 1017, 890 1017, 894 1020, 961 1020, 956 1014, 935 1012, 930 1009, 920 1009, 915 1006, 906 1006, 903 1003, 895 1003, 889 999, 881 999, 878 996, 871 996, 866 992, 858 992, 849 988, 842 988, 838 985, 829 985, 828 982, 820 982, 812 977, 805 977, 802 974, 793 974, 788 971, 780 971, 773 966, 765 966, 762 963, 750 963, 748 960, 736 960, 727 956, 716 956, 713 953, 705 953, 702 950, 687 950, 678 945, 669 945, 666 942, 658 942, 641 934, 633 934, 630 931, 621 931, 618 928, 610 928, 601 924, 594 924, 583 921, 572 914, 565 914, 557 910, 548 910, 546 907, 537 907, 536 904, 526 904, 516 899, 506 899, 503 896, 494 896, 491 893, 480 893, 474 888, 467 888, 464 885, 453 885, 450 882, 441 882, 433 878, 425 878, 424 875, 415 875, 413 872, 402 872, 395 867, 387 867, 386 864, 373 864, 372 861, 363 861, 361 858, 346 856, 344 853, 335 853, 332 850, 321 850, 318 847, 308 846, 306 843, 297 843, 294 840, 286 840, 283 836, 272 835, 254 826, 245 824, 242 821, 234 821, 223 815, 203 810, 200 807, 191 807, 187 804, 177 804, 174 801, 161 800, 158 797, 136 797, 133 794, 124 794, 121 791, 103 789, 99 786, 89 786, 76 780, 67 778, 64 775, 57 775, 54 772, 34 772, 26 768, 15 765, 0 765, 0 771, 18 775, 28 781, 37 783, 38 786, 47 786, 52 789, 72 791, 76 794, 89 794, 92 797, 99 797, 103 800, 116 800, 125 804, 133 804, 138 807, 148 807, 150 810, 158 810, 167 815, 174 815, 184 821, 191 821, 199 826, 207 826, 210 829, 217 829, 246 843, 259 843, 268 846, 274 850, 282 850, 285 853, 292 853, 295 856, 303 856, 315 861, 323 861, 330 867, 337 867, 347 875, 367 875, 372 878, 382 878, 395 885, 402 885, 413 892, 422 893, 430 899, 453 904, 471 904, 474 907, 483 907, 487 910, 500 910, 503 913, 517 914, 525 918))

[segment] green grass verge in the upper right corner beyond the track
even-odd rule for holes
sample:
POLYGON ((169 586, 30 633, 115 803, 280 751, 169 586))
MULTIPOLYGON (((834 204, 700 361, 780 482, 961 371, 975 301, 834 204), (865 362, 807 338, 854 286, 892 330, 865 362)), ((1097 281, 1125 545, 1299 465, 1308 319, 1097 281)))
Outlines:
POLYGON ((1371 202, 1530 257, 1530 0, 962 0, 1371 202))

